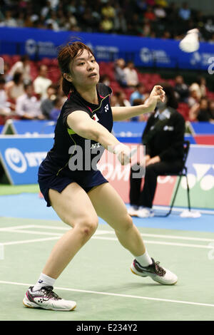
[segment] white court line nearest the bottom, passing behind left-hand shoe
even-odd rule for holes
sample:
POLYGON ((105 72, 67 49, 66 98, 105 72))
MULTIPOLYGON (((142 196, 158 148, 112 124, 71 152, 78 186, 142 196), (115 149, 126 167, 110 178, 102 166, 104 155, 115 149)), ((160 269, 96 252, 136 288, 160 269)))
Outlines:
MULTIPOLYGON (((26 286, 26 287, 30 287, 30 286, 33 285, 33 284, 24 284, 24 283, 17 283, 17 282, 4 282, 3 280, 0 280, 0 284, 19 285, 19 286, 26 286)), ((152 301, 163 301, 163 302, 171 302, 171 303, 175 303, 175 304, 188 304, 188 305, 195 305, 195 306, 214 307, 214 304, 204 304, 204 303, 201 303, 201 302, 161 299, 161 298, 152 298, 152 297, 141 297, 141 296, 135 296, 135 295, 131 295, 131 294, 118 294, 118 293, 109 293, 109 292, 88 291, 86 289, 66 289, 66 288, 63 288, 63 287, 54 287, 54 289, 61 289, 63 291, 80 292, 80 293, 102 294, 102 295, 113 296, 113 297, 143 299, 143 300, 152 300, 152 301)))

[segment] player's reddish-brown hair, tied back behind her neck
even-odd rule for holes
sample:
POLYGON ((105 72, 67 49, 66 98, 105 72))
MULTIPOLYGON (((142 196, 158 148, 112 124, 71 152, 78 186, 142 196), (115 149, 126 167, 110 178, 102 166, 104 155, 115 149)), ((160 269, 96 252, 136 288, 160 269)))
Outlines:
POLYGON ((88 46, 86 46, 86 44, 80 41, 71 41, 70 43, 67 43, 66 45, 60 46, 58 48, 58 66, 61 69, 62 73, 61 87, 63 93, 65 93, 66 96, 68 96, 70 92, 75 91, 75 87, 73 86, 73 83, 67 81, 66 78, 63 77, 63 74, 71 74, 71 65, 73 59, 77 55, 80 56, 84 50, 87 50, 93 55, 93 51, 91 50, 91 48, 89 48, 88 46))

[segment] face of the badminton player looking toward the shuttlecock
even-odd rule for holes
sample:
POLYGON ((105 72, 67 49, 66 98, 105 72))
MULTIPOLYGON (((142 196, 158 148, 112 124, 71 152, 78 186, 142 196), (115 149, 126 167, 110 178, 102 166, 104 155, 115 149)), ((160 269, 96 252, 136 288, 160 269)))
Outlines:
POLYGON ((99 81, 99 66, 94 56, 84 50, 77 55, 71 64, 71 79, 73 86, 94 86, 99 81))

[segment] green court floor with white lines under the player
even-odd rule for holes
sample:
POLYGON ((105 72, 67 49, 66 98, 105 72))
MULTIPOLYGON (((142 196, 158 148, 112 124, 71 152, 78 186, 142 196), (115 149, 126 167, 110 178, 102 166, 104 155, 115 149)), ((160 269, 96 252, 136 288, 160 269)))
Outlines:
POLYGON ((167 287, 131 273, 131 254, 107 225, 56 281, 74 311, 27 309, 34 284, 56 240, 69 228, 57 220, 0 217, 0 320, 214 320, 214 233, 138 228, 149 254, 178 275, 167 287))

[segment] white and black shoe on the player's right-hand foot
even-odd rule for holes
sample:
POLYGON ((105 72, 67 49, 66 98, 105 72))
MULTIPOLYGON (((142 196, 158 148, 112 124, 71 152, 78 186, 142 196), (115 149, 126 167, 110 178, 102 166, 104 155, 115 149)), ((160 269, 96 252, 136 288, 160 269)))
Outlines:
POLYGON ((152 261, 153 264, 148 267, 142 267, 142 265, 134 259, 131 264, 131 272, 141 277, 151 277, 155 282, 163 285, 174 285, 178 282, 176 274, 173 274, 173 272, 170 272, 168 269, 160 267, 160 262, 155 262, 153 258, 152 261))

